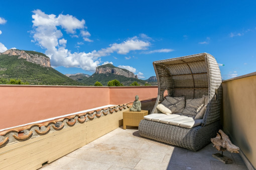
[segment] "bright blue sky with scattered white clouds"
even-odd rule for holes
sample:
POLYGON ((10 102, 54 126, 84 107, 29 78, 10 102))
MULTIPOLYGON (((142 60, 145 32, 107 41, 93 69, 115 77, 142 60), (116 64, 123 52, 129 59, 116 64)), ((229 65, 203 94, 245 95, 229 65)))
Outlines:
POLYGON ((212 54, 223 79, 256 71, 255 0, 2 0, 0 52, 47 54, 62 73, 113 63, 142 79, 152 62, 212 54))

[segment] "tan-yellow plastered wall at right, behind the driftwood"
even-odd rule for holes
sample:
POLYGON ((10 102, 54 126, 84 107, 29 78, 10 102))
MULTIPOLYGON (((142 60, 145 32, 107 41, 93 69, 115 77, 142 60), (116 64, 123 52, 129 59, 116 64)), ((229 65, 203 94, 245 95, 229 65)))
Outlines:
POLYGON ((256 167, 256 72, 222 82, 223 129, 256 167))

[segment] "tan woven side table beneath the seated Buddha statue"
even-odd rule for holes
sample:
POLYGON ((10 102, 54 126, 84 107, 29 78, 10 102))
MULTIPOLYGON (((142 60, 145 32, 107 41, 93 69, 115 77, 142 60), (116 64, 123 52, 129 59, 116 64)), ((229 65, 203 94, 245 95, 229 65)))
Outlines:
POLYGON ((140 121, 148 113, 148 110, 123 111, 123 129, 126 129, 126 125, 139 126, 140 121))

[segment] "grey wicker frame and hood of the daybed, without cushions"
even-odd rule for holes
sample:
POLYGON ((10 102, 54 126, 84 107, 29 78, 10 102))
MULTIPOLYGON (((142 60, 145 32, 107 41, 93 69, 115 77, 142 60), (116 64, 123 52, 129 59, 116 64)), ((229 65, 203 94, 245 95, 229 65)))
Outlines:
POLYGON ((153 62, 158 79, 158 97, 152 113, 161 113, 157 105, 168 96, 200 98, 208 95, 208 104, 201 125, 187 128, 143 119, 141 136, 197 151, 216 136, 220 124, 221 75, 215 58, 208 53, 153 62))

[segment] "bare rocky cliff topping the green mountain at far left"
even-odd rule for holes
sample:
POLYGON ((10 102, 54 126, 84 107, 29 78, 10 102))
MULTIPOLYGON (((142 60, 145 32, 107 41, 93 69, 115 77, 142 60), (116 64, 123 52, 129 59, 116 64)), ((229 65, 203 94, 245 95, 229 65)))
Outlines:
POLYGON ((29 62, 40 64, 41 66, 51 67, 50 58, 40 52, 8 49, 0 54, 20 55, 18 58, 24 58, 29 62))

